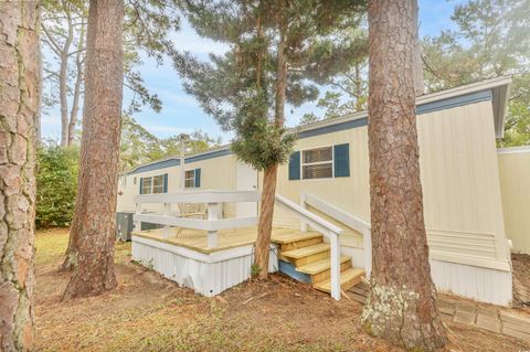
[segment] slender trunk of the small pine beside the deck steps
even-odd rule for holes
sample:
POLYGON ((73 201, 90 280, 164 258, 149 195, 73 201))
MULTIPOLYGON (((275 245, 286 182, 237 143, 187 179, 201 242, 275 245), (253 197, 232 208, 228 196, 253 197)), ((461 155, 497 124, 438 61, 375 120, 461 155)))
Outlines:
MULTIPOLYGON (((282 3, 282 6, 284 6, 282 3)), ((287 23, 279 20, 279 40, 277 45, 277 68, 276 68, 276 104, 275 104, 275 125, 277 128, 284 126, 285 120, 285 95, 287 89, 287 57, 286 57, 286 32, 287 23)), ((259 278, 265 279, 268 276, 268 252, 271 235, 273 231, 274 201, 276 195, 276 179, 278 166, 268 167, 263 175, 263 192, 259 211, 259 221, 257 224, 256 252, 254 265, 259 268, 259 278)))

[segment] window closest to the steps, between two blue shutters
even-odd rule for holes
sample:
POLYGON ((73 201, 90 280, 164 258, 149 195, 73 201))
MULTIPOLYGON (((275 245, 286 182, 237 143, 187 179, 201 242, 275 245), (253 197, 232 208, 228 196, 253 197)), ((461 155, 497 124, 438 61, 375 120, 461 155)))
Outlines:
POLYGON ((324 147, 301 152, 303 180, 330 179, 333 177, 333 149, 324 147))

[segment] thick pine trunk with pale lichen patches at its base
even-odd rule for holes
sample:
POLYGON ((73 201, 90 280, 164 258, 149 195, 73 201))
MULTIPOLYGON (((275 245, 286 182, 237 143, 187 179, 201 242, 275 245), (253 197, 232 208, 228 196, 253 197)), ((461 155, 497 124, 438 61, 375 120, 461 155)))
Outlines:
POLYGON ((371 292, 367 330, 406 349, 446 343, 423 218, 415 117, 415 1, 370 1, 371 292))

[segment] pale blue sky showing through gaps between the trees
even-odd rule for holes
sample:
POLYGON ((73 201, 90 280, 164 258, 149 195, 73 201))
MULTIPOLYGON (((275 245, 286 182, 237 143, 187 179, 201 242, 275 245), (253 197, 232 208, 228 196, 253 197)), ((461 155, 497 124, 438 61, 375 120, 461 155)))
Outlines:
MULTIPOLYGON (((454 29, 451 15, 456 4, 463 0, 420 0, 420 35, 438 35, 443 30, 454 29)), ((172 33, 177 49, 186 50, 200 58, 206 58, 208 53, 221 54, 227 50, 221 43, 209 39, 202 39, 193 29, 183 21, 181 30, 172 33)), ((215 121, 208 116, 199 106, 197 100, 187 95, 181 86, 177 72, 172 68, 169 60, 157 66, 153 60, 144 58, 139 67, 146 87, 151 94, 157 94, 162 102, 160 113, 144 107, 142 111, 132 117, 147 130, 159 138, 166 138, 178 134, 189 134, 197 129, 209 134, 212 137, 221 137, 223 142, 230 142, 231 135, 221 131, 215 121)), ((127 88, 124 90, 124 107, 132 98, 132 93, 127 88)), ((316 102, 306 103, 298 108, 286 108, 286 120, 288 126, 295 126, 306 113, 315 113, 317 116, 324 114, 316 102)), ((61 117, 59 106, 49 108, 42 116, 42 135, 45 139, 59 140, 61 136, 61 117)))

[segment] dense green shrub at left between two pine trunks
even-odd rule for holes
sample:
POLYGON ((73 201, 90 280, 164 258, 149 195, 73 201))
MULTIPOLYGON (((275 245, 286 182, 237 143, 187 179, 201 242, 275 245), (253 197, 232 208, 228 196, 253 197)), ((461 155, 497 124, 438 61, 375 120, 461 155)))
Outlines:
POLYGON ((70 226, 77 192, 78 147, 42 145, 36 153, 36 227, 70 226))

